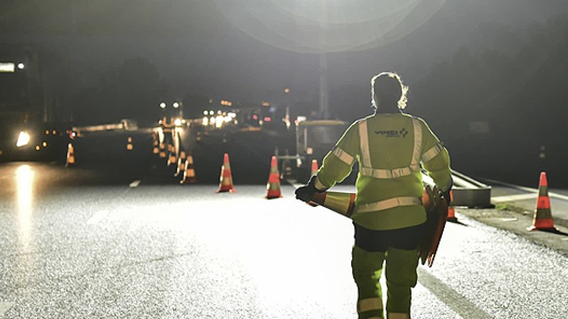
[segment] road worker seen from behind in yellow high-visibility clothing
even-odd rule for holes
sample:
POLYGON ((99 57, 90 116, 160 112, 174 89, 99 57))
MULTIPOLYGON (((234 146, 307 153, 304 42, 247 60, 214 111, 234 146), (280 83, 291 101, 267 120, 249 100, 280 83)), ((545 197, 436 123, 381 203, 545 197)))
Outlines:
POLYGON ((387 318, 410 318, 411 288, 416 286, 419 240, 426 221, 421 205, 421 168, 449 203, 452 188, 449 155, 424 120, 404 114, 406 93, 399 75, 384 72, 371 79, 375 114, 355 121, 324 157, 318 172, 296 198, 309 202, 343 181, 357 160, 357 196, 351 218, 352 251, 359 318, 383 318, 381 278, 387 283, 387 318))

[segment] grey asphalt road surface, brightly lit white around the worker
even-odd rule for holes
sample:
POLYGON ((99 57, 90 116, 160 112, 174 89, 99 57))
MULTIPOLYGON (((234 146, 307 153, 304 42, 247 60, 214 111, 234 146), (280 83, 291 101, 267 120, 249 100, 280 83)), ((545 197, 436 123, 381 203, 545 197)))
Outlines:
MULTIPOLYGON (((287 184, 264 199, 269 167, 216 194, 95 149, 98 166, 0 165, 0 318, 357 317, 352 224, 287 184)), ((566 318, 566 276, 566 255, 460 215, 412 317, 566 318)))

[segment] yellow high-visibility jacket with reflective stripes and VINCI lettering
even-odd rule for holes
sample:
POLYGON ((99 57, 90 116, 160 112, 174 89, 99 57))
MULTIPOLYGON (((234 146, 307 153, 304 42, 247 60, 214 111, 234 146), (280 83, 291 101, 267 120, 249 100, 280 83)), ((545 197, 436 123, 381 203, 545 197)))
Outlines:
POLYGON ((359 163, 351 218, 368 229, 422 224, 423 167, 442 190, 452 186, 448 151, 424 120, 407 114, 375 114, 355 121, 324 157, 315 187, 327 190, 359 163))

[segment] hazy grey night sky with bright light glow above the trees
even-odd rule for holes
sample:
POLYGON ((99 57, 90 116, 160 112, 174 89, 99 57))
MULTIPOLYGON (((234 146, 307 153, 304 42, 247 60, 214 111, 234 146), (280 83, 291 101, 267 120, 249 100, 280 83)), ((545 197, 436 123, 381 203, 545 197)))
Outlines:
POLYGON ((193 91, 254 100, 283 87, 317 92, 323 50, 330 52, 330 90, 364 87, 356 100, 366 101, 374 74, 396 70, 412 85, 457 48, 483 45, 484 27, 523 28, 568 12, 568 2, 557 0, 4 0, 2 6, 3 42, 70 54, 82 86, 126 58, 143 57, 168 78, 172 96, 193 91))

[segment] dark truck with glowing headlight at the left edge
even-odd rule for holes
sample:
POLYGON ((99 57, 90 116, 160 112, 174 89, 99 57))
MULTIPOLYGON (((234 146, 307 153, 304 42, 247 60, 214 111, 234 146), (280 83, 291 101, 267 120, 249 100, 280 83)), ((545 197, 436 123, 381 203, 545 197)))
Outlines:
POLYGON ((49 122, 43 83, 23 51, 0 52, 0 161, 65 160, 70 123, 49 122))

